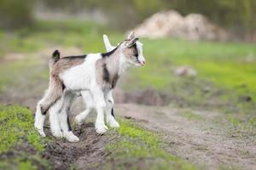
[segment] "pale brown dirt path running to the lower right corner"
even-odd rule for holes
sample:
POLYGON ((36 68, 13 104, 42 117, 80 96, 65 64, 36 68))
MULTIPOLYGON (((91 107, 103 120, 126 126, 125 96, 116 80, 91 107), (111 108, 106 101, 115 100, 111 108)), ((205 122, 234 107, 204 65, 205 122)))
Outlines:
MULTIPOLYGON (((239 136, 229 127, 209 122, 218 113, 201 112, 200 120, 182 116, 168 106, 116 105, 122 116, 141 120, 143 127, 162 133, 172 154, 207 169, 256 169, 255 136, 239 136)), ((199 113, 197 113, 199 114, 199 113)))

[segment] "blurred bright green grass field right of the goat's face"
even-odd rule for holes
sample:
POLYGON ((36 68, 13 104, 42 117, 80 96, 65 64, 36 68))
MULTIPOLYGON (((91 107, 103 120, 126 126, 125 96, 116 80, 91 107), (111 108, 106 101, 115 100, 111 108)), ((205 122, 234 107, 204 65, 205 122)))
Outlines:
POLYGON ((225 88, 246 84, 256 92, 255 59, 253 44, 235 42, 189 42, 172 39, 142 40, 147 65, 135 70, 143 87, 166 88, 176 77, 172 69, 178 65, 191 65, 199 77, 206 78, 225 88), (253 62, 247 63, 250 56, 253 62), (150 72, 150 74, 148 74, 150 72), (148 75, 148 76, 147 76, 148 75), (144 77, 145 76, 145 77, 144 77))

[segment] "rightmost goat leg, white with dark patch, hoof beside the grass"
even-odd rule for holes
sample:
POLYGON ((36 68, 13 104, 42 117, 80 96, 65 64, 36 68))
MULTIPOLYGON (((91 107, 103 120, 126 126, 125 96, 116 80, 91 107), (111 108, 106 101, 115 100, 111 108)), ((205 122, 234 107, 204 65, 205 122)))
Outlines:
POLYGON ((112 96, 112 90, 108 91, 108 93, 105 94, 105 101, 106 101, 106 116, 107 116, 107 123, 110 127, 119 127, 119 122, 115 120, 115 117, 113 115, 113 96, 112 96))

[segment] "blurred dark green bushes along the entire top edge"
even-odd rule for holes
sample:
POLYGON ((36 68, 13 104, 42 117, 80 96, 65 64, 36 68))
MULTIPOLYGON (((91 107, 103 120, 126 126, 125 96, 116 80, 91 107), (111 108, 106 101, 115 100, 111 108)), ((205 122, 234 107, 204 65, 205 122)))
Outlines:
MULTIPOLYGON (((235 33, 256 32, 256 0, 0 0, 0 26, 17 27, 32 23, 33 10, 40 5, 67 14, 101 11, 108 25, 129 30, 150 15, 175 9, 187 15, 204 14, 235 33)), ((256 33, 255 33, 256 34, 256 33)))

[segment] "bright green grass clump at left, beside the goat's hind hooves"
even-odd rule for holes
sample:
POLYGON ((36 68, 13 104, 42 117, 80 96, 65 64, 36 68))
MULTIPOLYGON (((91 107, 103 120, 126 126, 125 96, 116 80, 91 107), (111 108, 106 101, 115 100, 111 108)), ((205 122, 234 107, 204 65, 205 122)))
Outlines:
POLYGON ((33 127, 32 111, 18 105, 0 106, 0 151, 6 151, 26 140, 37 150, 43 150, 42 139, 33 127))

